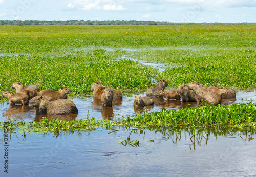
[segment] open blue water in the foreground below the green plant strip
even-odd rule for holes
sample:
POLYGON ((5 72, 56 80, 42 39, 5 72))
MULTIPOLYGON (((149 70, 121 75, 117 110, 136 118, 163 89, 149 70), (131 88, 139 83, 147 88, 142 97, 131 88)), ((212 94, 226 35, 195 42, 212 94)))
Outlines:
MULTIPOLYGON (((208 138, 181 131, 164 139, 145 130, 95 131, 81 135, 13 136, 9 171, 1 176, 250 176, 255 175, 256 144, 249 134, 208 138), (139 140, 139 146, 118 142, 139 140), (151 142, 150 140, 154 140, 151 142)), ((3 148, 0 153, 4 157, 3 148)))

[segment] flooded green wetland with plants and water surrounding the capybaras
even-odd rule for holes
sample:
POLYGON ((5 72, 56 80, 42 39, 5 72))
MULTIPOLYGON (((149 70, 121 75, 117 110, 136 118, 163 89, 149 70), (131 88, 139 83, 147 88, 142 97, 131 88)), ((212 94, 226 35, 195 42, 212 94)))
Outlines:
POLYGON ((0 27, 1 92, 15 93, 14 82, 65 86, 78 109, 39 115, 1 98, 0 176, 255 175, 255 32, 253 25, 0 27), (198 81, 237 94, 217 106, 163 97, 133 105, 161 79, 165 90, 198 81), (122 100, 103 107, 94 82, 120 89, 122 100))

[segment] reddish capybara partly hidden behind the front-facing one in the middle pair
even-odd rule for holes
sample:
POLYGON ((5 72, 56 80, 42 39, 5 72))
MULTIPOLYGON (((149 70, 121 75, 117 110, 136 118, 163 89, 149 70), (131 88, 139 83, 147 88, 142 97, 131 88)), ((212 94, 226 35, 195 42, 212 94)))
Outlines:
POLYGON ((91 85, 91 90, 93 91, 93 96, 97 99, 101 99, 101 95, 103 91, 106 89, 112 89, 114 95, 113 100, 121 100, 123 98, 123 94, 120 90, 114 89, 112 87, 104 87, 101 82, 95 82, 91 85))

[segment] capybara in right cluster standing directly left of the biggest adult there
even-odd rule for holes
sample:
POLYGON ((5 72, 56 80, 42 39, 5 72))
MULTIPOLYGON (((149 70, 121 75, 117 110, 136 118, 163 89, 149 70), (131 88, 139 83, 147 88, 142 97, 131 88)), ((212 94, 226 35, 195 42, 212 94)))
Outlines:
POLYGON ((177 89, 182 102, 195 102, 197 101, 196 94, 193 90, 188 90, 186 85, 180 85, 177 89))

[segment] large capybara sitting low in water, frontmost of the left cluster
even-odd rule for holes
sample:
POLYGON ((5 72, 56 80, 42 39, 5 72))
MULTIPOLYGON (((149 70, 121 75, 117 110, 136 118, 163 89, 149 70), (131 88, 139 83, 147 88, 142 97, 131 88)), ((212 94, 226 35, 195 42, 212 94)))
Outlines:
POLYGON ((48 101, 44 96, 36 96, 29 100, 29 107, 35 107, 36 114, 76 114, 76 105, 68 99, 48 101))

